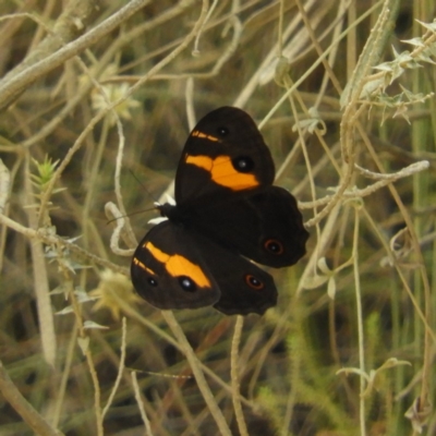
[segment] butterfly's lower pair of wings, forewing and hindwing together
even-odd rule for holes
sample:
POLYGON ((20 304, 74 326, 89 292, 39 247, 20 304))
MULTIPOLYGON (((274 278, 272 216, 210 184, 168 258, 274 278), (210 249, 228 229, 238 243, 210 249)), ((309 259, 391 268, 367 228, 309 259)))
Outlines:
POLYGON ((214 304, 227 315, 263 314, 277 302, 269 274, 170 221, 141 241, 131 275, 137 293, 164 310, 214 304))

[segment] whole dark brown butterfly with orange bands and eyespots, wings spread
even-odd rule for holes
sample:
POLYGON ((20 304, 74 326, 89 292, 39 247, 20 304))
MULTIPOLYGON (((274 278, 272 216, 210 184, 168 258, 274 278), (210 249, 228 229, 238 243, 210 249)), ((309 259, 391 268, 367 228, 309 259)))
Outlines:
POLYGON ((184 145, 175 205, 157 206, 168 219, 133 255, 136 292, 162 310, 213 305, 226 315, 262 315, 276 305, 272 277, 256 264, 295 264, 308 233, 295 198, 274 178, 269 148, 246 112, 207 113, 184 145))

